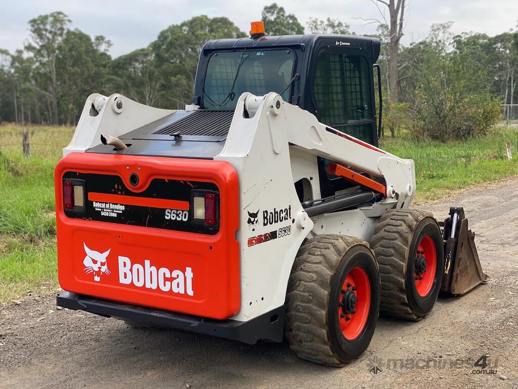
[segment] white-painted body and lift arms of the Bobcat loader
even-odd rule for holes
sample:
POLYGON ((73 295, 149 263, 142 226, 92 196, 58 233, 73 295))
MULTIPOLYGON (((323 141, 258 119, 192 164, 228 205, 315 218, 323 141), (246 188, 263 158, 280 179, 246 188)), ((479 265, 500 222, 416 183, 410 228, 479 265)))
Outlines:
MULTIPOLYGON (((102 133, 118 137, 173 112, 120 94, 92 94, 63 154, 100 144, 102 133)), ((368 242, 379 217, 408 208, 415 193, 412 160, 341 135, 274 92, 239 97, 224 147, 213 159, 231 163, 239 177, 241 307, 233 319, 241 322, 284 304, 293 262, 306 238, 334 233, 368 242), (386 193, 367 206, 310 217, 294 183, 303 180, 305 201, 321 199, 319 157, 366 173, 382 182, 386 193)))

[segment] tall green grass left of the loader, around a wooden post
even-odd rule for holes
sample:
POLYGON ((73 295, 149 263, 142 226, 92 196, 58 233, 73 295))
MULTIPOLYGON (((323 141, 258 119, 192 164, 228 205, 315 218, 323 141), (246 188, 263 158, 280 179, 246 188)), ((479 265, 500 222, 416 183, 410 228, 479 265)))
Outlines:
POLYGON ((0 304, 57 288, 53 172, 74 130, 0 126, 0 304))

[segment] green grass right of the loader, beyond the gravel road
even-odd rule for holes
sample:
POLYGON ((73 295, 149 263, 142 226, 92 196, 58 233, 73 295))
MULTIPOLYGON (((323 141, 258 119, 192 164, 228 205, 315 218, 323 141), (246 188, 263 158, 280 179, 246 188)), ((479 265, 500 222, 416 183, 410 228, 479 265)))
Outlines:
POLYGON ((483 138, 449 143, 388 138, 380 142, 380 147, 398 157, 414 160, 417 203, 438 200, 473 184, 518 174, 516 126, 497 126, 483 138), (507 159, 507 140, 511 142, 512 160, 507 159))

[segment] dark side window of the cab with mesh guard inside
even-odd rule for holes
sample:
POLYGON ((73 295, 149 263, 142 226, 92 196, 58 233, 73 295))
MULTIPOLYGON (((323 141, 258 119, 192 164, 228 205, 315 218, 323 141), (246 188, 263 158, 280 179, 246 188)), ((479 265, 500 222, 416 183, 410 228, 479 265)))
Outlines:
POLYGON ((321 52, 316 59, 313 96, 320 122, 373 144, 370 66, 363 55, 321 52))

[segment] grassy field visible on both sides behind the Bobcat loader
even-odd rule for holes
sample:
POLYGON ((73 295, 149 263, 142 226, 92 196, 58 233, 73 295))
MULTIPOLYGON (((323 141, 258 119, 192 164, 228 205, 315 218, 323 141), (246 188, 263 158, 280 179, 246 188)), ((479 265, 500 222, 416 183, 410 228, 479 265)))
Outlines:
MULTIPOLYGON (((20 126, 0 126, 0 304, 57 288, 53 169, 73 128, 30 127, 31 157, 22 155, 20 126)), ((467 142, 383 140, 415 161, 416 201, 445 197, 472 184, 518 174, 518 127, 496 127, 467 142), (508 161, 506 140, 516 158, 508 161)))

